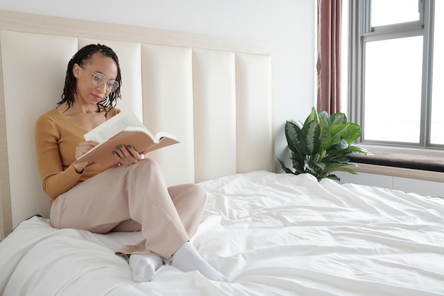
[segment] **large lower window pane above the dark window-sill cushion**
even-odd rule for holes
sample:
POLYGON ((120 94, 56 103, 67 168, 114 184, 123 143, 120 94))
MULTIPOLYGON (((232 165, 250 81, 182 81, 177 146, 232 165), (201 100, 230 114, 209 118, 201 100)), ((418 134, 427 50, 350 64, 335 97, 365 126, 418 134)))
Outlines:
POLYGON ((422 36, 365 45, 365 140, 419 143, 422 36))

